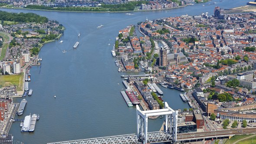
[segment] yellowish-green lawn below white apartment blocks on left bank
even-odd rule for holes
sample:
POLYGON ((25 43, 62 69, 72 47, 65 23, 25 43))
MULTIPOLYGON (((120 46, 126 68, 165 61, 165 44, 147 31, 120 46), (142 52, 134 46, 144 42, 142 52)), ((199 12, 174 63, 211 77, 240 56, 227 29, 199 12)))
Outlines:
POLYGON ((16 85, 17 91, 22 91, 23 75, 0 75, 0 87, 16 85))

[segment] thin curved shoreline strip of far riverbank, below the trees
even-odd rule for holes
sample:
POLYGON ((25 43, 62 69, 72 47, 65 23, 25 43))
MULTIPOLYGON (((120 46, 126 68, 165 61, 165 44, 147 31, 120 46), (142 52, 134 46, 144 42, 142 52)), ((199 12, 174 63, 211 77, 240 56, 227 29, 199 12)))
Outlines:
MULTIPOLYGON (((187 7, 190 4, 186 4, 184 6, 179 7, 171 7, 166 9, 159 9, 159 10, 171 10, 177 9, 181 7, 187 7)), ((148 12, 148 11, 159 11, 159 10, 127 10, 127 11, 72 11, 72 10, 43 10, 43 9, 26 9, 21 7, 1 7, 3 9, 13 9, 13 10, 39 10, 39 11, 56 11, 56 12, 75 12, 75 13, 127 13, 127 12, 148 12)))

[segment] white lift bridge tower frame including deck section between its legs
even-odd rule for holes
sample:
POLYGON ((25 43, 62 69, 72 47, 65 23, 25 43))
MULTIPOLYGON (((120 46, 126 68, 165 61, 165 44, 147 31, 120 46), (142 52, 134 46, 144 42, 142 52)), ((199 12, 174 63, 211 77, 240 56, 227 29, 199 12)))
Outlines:
POLYGON ((137 137, 143 144, 164 142, 164 141, 177 141, 177 119, 178 111, 170 108, 167 102, 164 103, 163 109, 141 111, 139 106, 137 109, 137 137), (165 130, 148 132, 148 117, 165 115, 165 130))

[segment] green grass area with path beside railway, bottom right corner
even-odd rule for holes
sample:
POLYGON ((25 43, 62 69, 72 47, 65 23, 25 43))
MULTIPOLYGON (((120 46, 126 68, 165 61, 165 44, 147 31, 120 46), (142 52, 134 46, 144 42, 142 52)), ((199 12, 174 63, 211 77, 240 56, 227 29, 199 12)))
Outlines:
POLYGON ((225 144, 256 144, 255 134, 235 135, 231 137, 225 144))

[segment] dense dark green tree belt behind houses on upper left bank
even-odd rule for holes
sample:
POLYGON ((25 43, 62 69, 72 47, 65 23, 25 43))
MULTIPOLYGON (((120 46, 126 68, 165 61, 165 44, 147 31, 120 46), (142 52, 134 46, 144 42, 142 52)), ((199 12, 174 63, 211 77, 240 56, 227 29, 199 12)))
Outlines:
POLYGON ((0 20, 13 21, 13 22, 36 22, 47 23, 48 18, 45 16, 39 16, 35 13, 7 13, 0 11, 0 20))

